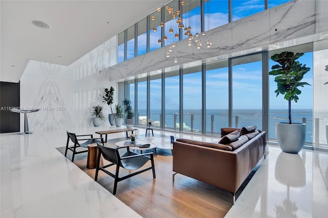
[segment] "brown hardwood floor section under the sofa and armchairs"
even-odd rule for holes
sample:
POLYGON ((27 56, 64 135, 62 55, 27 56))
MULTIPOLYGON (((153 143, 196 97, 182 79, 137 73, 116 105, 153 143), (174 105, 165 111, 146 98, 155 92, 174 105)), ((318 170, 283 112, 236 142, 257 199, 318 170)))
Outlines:
MULTIPOLYGON (((109 140, 114 143, 118 140, 109 140)), ((94 179, 95 169, 87 169, 86 154, 75 156, 76 164, 94 179)), ((68 158, 69 155, 68 155, 68 158)), ((186 157, 188 158, 188 157, 186 157)), ((156 179, 148 170, 121 181, 117 185, 116 197, 143 217, 223 217, 232 206, 230 192, 212 185, 177 174, 172 181, 172 155, 169 150, 157 149, 154 156, 156 179)), ((107 161, 104 160, 106 164, 107 161)), ((149 167, 150 162, 145 165, 149 167)), ((107 168, 115 172, 115 167, 107 168)), ((120 177, 128 170, 120 169, 120 177)), ((110 192, 114 179, 99 171, 98 181, 110 192)))

